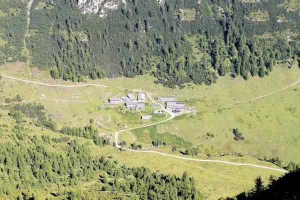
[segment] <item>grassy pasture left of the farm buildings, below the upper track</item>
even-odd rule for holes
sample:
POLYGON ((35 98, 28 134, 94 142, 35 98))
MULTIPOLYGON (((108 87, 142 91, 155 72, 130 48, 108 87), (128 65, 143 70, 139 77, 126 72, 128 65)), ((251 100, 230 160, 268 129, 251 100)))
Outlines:
MULTIPOLYGON (((107 101, 112 96, 126 95, 128 90, 118 88, 105 88, 95 86, 84 87, 52 87, 32 84, 13 79, 1 81, 2 90, 0 101, 13 98, 20 94, 23 102, 38 102, 45 106, 46 114, 62 125, 82 127, 89 124, 89 119, 94 118, 99 125, 100 132, 114 132, 118 129, 136 127, 136 124, 146 125, 167 118, 167 115, 154 114, 149 120, 141 120, 141 115, 152 114, 150 103, 145 103, 146 109, 129 110, 119 105, 109 105, 107 101), (30 92, 28 92, 30 91, 30 92)), ((136 93, 136 92, 132 92, 136 93)))

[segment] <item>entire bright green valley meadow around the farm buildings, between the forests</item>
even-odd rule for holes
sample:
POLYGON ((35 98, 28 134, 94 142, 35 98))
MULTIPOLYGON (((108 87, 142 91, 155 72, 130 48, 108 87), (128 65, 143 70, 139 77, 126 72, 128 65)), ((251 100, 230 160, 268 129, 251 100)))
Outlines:
MULTIPOLYGON (((2 74, 27 80, 59 85, 74 84, 70 81, 54 80, 47 71, 29 68, 22 63, 2 65, 0 70, 2 74)), ((94 125, 97 125, 99 133, 113 133, 120 129, 152 124, 169 116, 152 114, 151 119, 141 120, 141 115, 151 114, 153 111, 149 106, 149 99, 146 110, 130 111, 122 104, 111 106, 103 102, 109 97, 120 97, 129 91, 136 95, 137 90, 149 92, 147 95, 151 95, 155 100, 157 96, 176 96, 178 101, 185 101, 186 106, 195 106, 198 110, 180 114, 155 126, 121 132, 119 140, 125 140, 127 144, 135 141, 142 144, 143 148, 152 148, 153 140, 162 139, 166 145, 153 150, 185 156, 179 151, 172 151, 171 146, 179 146, 179 149, 198 147, 200 153, 193 158, 245 162, 276 168, 274 164, 261 161, 257 157, 279 156, 283 164, 290 161, 300 162, 297 156, 300 153, 300 84, 285 88, 299 78, 300 69, 297 66, 288 68, 284 64, 274 67, 269 76, 264 78, 250 77, 245 81, 239 76, 235 79, 220 76, 217 83, 210 86, 189 83, 183 89, 170 89, 155 84, 155 78, 148 74, 135 78, 86 79, 86 83, 123 89, 100 86, 53 87, 2 77, 0 103, 4 105, 5 98, 12 98, 19 93, 23 102, 43 104, 47 115, 53 118, 58 126, 79 127, 89 124, 89 119, 94 118, 94 125), (265 94, 269 95, 256 99, 265 94), (232 128, 236 127, 242 132, 244 140, 233 139, 232 128), (207 133, 213 134, 214 137, 207 136, 207 133), (236 156, 238 153, 243 156, 236 156), (225 156, 220 156, 221 154, 225 156)), ((32 134, 62 136, 46 129, 41 131, 40 128, 29 124, 27 126, 32 129, 32 134)), ((113 146, 100 148, 94 145, 92 140, 78 139, 89 147, 92 156, 112 155, 121 164, 146 166, 162 173, 181 175, 187 170, 195 177, 197 187, 209 199, 230 196, 249 189, 257 175, 261 175, 267 182, 270 174, 281 174, 278 171, 251 166, 197 162, 126 150, 120 152, 113 146)))

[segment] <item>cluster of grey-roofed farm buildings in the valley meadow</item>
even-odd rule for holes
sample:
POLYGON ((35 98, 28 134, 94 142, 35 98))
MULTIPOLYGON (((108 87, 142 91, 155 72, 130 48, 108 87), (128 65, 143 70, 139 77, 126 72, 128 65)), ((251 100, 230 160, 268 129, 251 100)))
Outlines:
MULTIPOLYGON (((127 96, 122 96, 120 98, 111 97, 108 99, 108 102, 111 105, 124 102, 124 106, 126 108, 129 108, 130 110, 145 109, 145 104, 142 102, 139 102, 139 101, 144 101, 145 98, 146 98, 146 94, 138 93, 136 101, 135 101, 134 100, 135 96, 131 93, 128 93, 127 96)), ((175 113, 184 112, 187 109, 184 102, 177 102, 176 97, 157 97, 157 100, 159 100, 162 104, 165 103, 166 104, 165 108, 168 110, 171 110, 172 112, 175 112, 175 113)), ((152 103, 152 104, 150 104, 150 107, 160 108, 161 105, 152 103)), ((153 110, 153 113, 155 113, 155 114, 163 114, 164 112, 165 111, 163 109, 153 110)), ((145 115, 145 116, 141 116, 141 119, 149 119, 151 117, 152 117, 151 115, 145 115)))

